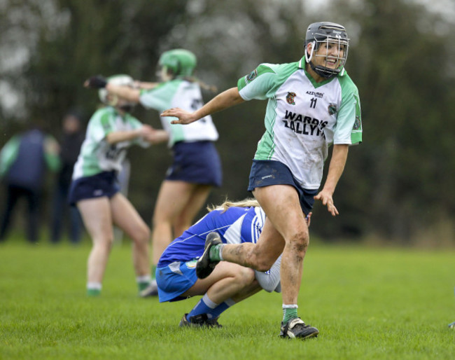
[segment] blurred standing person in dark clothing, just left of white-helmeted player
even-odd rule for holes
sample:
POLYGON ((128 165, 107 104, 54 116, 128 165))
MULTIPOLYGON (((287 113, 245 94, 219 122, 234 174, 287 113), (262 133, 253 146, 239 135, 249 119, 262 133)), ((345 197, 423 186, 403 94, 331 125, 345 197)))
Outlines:
POLYGON ((67 200, 73 167, 76 160, 78 160, 80 146, 85 138, 80 114, 76 112, 67 113, 63 118, 62 127, 63 132, 62 138, 60 139, 59 153, 61 167, 57 175, 57 183, 55 184, 50 240, 52 243, 60 241, 62 228, 67 219, 69 240, 73 244, 78 244, 82 234, 82 221, 78 209, 69 206, 67 200))

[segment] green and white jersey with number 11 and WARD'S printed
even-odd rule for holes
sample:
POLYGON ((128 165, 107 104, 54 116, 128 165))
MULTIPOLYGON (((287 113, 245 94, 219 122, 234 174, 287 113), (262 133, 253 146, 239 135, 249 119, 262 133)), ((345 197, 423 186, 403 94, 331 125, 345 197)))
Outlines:
POLYGON ((254 158, 283 162, 311 190, 321 185, 328 146, 360 143, 362 123, 358 90, 346 71, 316 83, 304 65, 304 59, 260 64, 237 88, 244 100, 268 99, 254 158))

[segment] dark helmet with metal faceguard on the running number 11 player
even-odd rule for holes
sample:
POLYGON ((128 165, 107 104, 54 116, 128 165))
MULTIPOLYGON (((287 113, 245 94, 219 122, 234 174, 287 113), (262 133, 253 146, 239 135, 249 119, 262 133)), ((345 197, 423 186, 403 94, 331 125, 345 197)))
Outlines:
POLYGON ((309 25, 307 29, 307 36, 305 36, 305 61, 309 64, 316 74, 323 78, 330 78, 339 74, 342 71, 348 56, 349 39, 346 34, 346 29, 342 25, 335 24, 335 22, 314 22, 309 25), (311 51, 308 53, 307 45, 311 43, 311 51), (325 53, 316 52, 321 48, 321 45, 326 44, 325 53), (337 55, 329 55, 329 46, 337 47, 337 55), (342 56, 340 54, 342 53, 342 56), (338 66, 334 69, 330 67, 323 67, 322 65, 315 65, 311 62, 313 57, 324 57, 325 59, 335 60, 338 66))

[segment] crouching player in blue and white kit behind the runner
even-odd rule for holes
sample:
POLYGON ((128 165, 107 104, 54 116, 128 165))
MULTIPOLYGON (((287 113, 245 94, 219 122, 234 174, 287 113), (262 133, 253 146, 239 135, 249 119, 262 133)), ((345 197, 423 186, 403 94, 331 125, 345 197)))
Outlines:
POLYGON ((207 278, 197 278, 195 266, 206 238, 229 244, 255 243, 265 222, 265 213, 254 199, 226 201, 208 209, 207 215, 169 244, 156 271, 160 303, 203 295, 180 326, 221 327, 218 317, 230 306, 261 289, 281 291, 281 257, 267 272, 221 261, 207 278))

